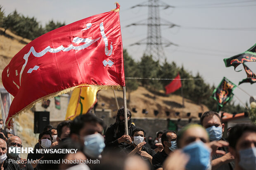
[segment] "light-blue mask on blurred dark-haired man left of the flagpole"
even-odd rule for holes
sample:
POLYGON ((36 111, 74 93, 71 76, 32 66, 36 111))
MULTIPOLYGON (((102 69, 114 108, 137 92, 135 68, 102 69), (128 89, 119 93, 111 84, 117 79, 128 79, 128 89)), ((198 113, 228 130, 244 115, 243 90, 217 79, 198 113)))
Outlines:
POLYGON ((98 158, 105 147, 104 138, 100 133, 85 136, 85 155, 91 158, 98 158))

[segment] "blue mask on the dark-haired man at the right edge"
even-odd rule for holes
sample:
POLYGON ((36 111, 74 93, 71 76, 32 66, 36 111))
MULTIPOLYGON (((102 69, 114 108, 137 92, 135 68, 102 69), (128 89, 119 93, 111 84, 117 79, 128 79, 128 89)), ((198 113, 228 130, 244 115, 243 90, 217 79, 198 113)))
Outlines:
POLYGON ((256 147, 239 150, 239 165, 244 170, 256 170, 256 147))

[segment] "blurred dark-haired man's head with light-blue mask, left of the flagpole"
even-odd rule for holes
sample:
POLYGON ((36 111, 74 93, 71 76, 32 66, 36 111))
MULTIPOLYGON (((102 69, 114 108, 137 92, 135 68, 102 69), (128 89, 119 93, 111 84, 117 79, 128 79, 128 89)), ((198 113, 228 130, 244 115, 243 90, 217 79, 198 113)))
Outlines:
POLYGON ((73 119, 70 126, 70 138, 80 143, 88 159, 99 159, 105 147, 103 121, 92 114, 80 115, 73 119))

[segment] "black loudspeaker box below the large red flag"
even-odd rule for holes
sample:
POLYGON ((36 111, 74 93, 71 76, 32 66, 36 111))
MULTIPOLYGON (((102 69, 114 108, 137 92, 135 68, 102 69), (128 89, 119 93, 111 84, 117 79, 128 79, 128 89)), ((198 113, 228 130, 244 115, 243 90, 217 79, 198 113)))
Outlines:
POLYGON ((41 133, 50 124, 50 112, 34 112, 34 133, 41 133))

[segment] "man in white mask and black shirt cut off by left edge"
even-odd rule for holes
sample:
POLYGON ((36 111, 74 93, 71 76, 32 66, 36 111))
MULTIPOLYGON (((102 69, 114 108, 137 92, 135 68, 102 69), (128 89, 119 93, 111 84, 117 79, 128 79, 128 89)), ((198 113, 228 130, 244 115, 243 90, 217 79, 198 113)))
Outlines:
POLYGON ((0 139, 0 170, 20 170, 19 165, 7 160, 7 145, 5 140, 0 139))

